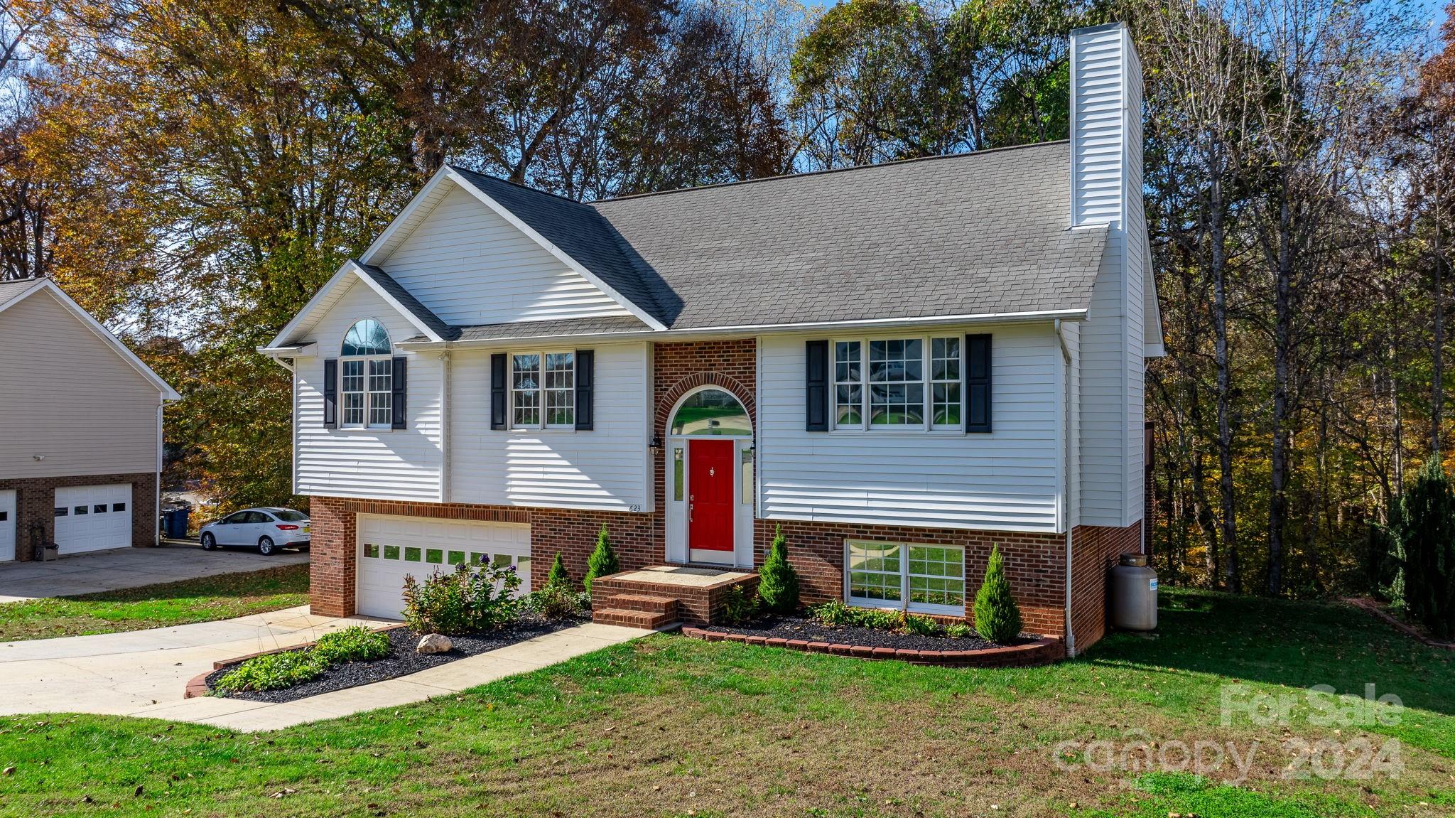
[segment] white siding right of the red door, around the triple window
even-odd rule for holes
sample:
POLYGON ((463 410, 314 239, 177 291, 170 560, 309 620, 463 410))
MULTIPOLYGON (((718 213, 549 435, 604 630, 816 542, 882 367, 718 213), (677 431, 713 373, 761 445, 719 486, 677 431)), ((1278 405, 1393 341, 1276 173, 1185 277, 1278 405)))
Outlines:
POLYGON ((994 336, 992 434, 806 432, 803 342, 809 336, 760 338, 760 515, 1056 531, 1059 342, 1049 323, 969 330, 994 336))

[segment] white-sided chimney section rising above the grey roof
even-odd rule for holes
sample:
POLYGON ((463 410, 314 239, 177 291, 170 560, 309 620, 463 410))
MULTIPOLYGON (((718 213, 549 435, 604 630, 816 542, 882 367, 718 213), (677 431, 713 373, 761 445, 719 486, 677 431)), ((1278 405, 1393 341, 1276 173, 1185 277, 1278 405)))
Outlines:
POLYGON ((1142 63, 1126 23, 1071 32, 1071 226, 1125 229, 1142 189, 1142 63))

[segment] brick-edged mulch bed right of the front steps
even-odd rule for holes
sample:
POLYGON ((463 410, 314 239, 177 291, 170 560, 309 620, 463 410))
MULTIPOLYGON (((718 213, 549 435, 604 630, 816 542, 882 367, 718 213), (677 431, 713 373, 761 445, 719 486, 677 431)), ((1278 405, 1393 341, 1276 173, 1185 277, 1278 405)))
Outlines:
POLYGON ((858 659, 899 659, 917 665, 1033 667, 1065 658, 1058 639, 1023 635, 1014 645, 995 645, 979 636, 914 636, 874 627, 829 627, 806 617, 771 617, 744 626, 682 627, 682 635, 707 642, 742 642, 805 654, 832 654, 858 659))

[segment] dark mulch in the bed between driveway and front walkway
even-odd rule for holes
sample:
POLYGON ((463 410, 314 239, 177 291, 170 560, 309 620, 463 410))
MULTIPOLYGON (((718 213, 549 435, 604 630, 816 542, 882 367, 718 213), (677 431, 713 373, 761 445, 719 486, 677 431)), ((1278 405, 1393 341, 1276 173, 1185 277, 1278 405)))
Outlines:
MULTIPOLYGON (((477 654, 505 648, 506 645, 515 645, 517 642, 524 642, 535 636, 575 627, 582 622, 586 620, 567 619, 547 622, 533 614, 527 614, 511 627, 502 627, 501 630, 492 630, 489 633, 479 633, 474 636, 451 636, 451 649, 448 652, 428 655, 415 652, 415 645, 419 643, 420 638, 419 633, 415 633, 409 627, 396 627, 384 632, 388 635, 390 654, 381 659, 335 665, 313 681, 306 681, 294 687, 285 687, 282 690, 249 690, 231 693, 227 697, 247 699, 250 702, 294 702, 298 699, 307 699, 308 696, 317 696, 320 693, 330 693, 333 690, 345 690, 349 687, 358 687, 359 684, 371 684, 387 678, 409 675, 412 672, 419 672, 455 659, 474 656, 477 654)), ((227 671, 236 668, 239 664, 242 662, 231 662, 207 674, 208 690, 212 688, 217 680, 223 678, 227 671)))

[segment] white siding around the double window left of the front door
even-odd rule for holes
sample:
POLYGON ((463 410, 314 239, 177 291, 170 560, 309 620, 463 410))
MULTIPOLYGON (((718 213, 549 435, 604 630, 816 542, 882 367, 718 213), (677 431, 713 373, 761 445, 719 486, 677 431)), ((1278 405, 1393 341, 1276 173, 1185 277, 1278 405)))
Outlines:
POLYGON ((508 349, 454 354, 451 502, 650 511, 647 345, 607 344, 592 349, 591 431, 492 431, 490 354, 508 349))

